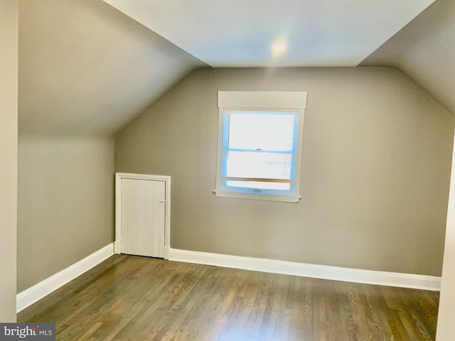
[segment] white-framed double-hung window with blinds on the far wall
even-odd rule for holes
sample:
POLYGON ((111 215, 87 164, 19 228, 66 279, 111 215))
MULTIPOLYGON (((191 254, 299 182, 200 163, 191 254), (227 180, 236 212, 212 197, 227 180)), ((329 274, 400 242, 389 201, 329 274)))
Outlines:
POLYGON ((306 92, 218 92, 218 197, 299 201, 306 92))

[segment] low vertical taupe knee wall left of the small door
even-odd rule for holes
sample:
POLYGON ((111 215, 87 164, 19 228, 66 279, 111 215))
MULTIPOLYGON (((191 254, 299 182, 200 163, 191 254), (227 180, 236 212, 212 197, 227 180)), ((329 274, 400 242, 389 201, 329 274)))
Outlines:
POLYGON ((20 136, 18 292, 114 240, 114 141, 20 136))

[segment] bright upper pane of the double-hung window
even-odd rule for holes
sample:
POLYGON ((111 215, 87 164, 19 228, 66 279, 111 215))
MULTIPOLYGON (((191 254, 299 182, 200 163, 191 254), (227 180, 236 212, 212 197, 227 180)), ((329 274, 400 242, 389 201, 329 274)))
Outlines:
POLYGON ((292 151, 295 112, 230 112, 229 148, 292 151))

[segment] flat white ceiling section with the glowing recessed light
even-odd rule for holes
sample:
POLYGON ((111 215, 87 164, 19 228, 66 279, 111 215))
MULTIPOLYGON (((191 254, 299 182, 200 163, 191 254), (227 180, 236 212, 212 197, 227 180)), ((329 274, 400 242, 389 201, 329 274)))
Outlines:
POLYGON ((434 2, 103 1, 213 67, 356 66, 434 2))

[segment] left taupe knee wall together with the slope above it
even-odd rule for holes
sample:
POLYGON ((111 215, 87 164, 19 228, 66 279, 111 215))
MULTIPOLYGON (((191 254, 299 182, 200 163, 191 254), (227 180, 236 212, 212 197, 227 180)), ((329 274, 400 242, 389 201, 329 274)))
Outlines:
POLYGON ((204 64, 101 0, 19 5, 20 292, 113 242, 112 134, 204 64))

